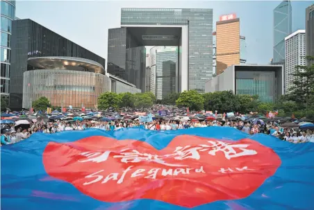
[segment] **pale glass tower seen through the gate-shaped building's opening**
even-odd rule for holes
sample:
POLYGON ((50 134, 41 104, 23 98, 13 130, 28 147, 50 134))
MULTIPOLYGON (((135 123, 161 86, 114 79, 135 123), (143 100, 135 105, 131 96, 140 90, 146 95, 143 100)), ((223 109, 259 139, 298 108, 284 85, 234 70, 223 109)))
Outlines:
POLYGON ((161 100, 176 92, 178 55, 176 51, 160 51, 156 53, 156 98, 161 100))

